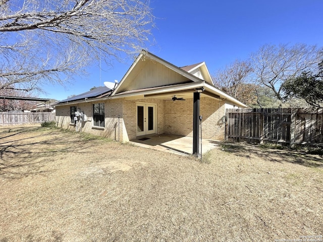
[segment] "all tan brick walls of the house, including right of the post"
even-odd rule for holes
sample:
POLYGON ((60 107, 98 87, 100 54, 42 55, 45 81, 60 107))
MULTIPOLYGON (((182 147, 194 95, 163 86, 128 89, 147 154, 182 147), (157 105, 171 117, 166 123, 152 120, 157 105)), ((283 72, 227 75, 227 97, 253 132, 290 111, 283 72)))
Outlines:
MULTIPOLYGON (((157 134, 193 135, 193 99, 175 102, 161 99, 112 99, 57 106, 56 121, 58 127, 76 130, 75 125, 71 124, 70 106, 77 106, 88 117, 88 121, 82 123, 82 132, 109 137, 117 141, 129 141, 136 138, 136 103, 138 102, 156 104, 157 134), (105 127, 93 127, 93 104, 102 102, 104 103, 105 127)), ((222 121, 225 115, 225 102, 208 97, 201 98, 200 115, 203 116, 203 138, 223 140, 225 125, 222 121), (213 112, 214 108, 216 112, 213 112)))

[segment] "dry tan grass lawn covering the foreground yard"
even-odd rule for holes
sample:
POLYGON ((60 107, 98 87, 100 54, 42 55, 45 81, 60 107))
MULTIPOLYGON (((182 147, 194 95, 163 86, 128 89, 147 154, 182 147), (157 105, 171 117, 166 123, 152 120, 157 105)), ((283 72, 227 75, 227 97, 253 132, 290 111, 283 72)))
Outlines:
POLYGON ((2 127, 0 185, 1 242, 323 235, 321 153, 225 143, 201 162, 59 129, 2 127))

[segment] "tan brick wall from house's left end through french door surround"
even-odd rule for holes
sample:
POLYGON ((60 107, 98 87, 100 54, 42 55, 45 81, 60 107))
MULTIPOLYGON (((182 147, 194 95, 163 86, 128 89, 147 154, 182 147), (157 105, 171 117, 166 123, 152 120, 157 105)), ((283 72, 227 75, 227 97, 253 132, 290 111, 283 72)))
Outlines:
POLYGON ((71 124, 70 107, 77 106, 88 117, 87 122, 82 123, 82 132, 111 138, 117 141, 129 141, 137 135, 136 103, 156 104, 156 133, 164 133, 164 101, 159 99, 123 100, 112 99, 96 102, 84 102, 79 104, 57 106, 56 122, 58 127, 75 130, 74 123, 71 124), (93 127, 93 104, 104 103, 104 128, 93 127), (120 118, 118 118, 120 115, 120 118))

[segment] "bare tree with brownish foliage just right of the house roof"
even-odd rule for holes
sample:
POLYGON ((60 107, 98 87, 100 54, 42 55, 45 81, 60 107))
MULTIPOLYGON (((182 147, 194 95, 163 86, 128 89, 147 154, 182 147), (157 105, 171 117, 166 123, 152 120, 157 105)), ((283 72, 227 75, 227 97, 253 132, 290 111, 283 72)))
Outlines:
POLYGON ((213 77, 216 87, 245 103, 251 105, 256 100, 256 86, 250 82, 252 73, 248 61, 236 60, 224 70, 219 70, 213 77))

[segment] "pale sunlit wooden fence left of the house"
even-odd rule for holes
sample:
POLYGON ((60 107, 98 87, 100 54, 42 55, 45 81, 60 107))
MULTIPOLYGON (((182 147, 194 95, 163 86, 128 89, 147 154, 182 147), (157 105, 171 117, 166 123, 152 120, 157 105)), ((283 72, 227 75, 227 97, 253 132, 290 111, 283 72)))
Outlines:
POLYGON ((53 112, 0 112, 0 125, 39 124, 55 121, 53 112))

